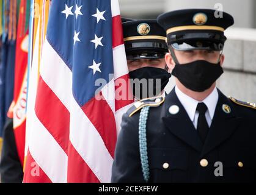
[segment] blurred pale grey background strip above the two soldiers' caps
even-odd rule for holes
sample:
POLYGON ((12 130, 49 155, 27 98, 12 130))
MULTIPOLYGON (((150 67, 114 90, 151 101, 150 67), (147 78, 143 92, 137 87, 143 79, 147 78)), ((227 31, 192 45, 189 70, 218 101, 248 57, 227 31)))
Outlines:
POLYGON ((255 0, 119 0, 121 15, 136 19, 156 18, 163 12, 176 9, 214 9, 217 3, 235 18, 235 27, 256 28, 255 0))

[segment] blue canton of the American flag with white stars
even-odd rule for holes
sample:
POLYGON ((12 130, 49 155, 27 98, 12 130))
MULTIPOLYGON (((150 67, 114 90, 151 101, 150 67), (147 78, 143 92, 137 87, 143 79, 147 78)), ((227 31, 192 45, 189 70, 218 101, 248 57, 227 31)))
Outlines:
POLYGON ((52 4, 59 9, 50 12, 46 37, 72 71, 73 96, 80 106, 95 96, 95 80, 114 74, 110 5, 110 0, 52 4))

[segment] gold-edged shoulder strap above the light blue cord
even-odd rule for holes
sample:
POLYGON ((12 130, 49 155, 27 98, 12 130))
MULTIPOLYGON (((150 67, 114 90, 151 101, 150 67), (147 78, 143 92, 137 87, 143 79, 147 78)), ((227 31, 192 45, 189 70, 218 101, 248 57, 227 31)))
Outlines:
POLYGON ((154 97, 154 98, 145 98, 140 101, 137 101, 133 104, 133 106, 127 111, 128 116, 131 117, 133 116, 134 113, 137 111, 141 110, 141 108, 145 106, 150 106, 150 107, 158 107, 164 102, 164 98, 159 96, 159 97, 154 97))

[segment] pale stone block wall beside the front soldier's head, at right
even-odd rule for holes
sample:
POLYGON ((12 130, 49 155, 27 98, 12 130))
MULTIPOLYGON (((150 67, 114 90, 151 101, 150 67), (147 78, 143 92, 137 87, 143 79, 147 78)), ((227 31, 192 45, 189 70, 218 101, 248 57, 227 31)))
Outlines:
POLYGON ((226 94, 256 102, 256 29, 227 30, 224 74, 218 87, 226 94))

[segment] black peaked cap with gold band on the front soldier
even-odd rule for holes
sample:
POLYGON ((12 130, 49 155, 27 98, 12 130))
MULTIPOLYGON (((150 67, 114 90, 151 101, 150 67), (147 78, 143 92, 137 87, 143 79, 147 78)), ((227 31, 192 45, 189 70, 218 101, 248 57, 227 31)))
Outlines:
POLYGON ((211 9, 175 10, 159 15, 157 21, 166 30, 168 46, 181 51, 221 51, 227 40, 224 30, 234 23, 229 13, 211 9))

